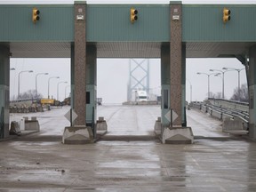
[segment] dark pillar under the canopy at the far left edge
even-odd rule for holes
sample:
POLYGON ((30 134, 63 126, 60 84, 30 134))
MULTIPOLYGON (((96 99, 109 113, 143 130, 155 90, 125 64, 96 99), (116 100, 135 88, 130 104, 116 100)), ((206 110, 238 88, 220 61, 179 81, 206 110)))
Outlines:
POLYGON ((9 136, 10 49, 0 46, 0 139, 9 136))

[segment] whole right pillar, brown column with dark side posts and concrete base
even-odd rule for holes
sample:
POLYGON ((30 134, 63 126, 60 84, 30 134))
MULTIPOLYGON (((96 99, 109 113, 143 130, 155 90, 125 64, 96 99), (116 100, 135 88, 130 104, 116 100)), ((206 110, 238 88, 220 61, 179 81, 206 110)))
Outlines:
POLYGON ((163 99, 170 97, 170 102, 164 102, 164 108, 169 107, 166 113, 162 104, 162 132, 161 139, 163 143, 193 143, 194 136, 190 127, 185 127, 185 84, 186 84, 186 46, 182 46, 182 4, 181 2, 171 2, 171 42, 170 46, 163 46, 161 49, 161 66, 162 66, 162 89, 168 90, 165 86, 169 86, 169 93, 162 92, 163 99), (166 52, 168 51, 168 52, 166 52), (169 60, 166 58, 169 56, 169 60), (167 62, 169 61, 169 70, 167 62), (164 68, 167 73, 164 72, 164 68), (169 74, 169 75, 168 75, 169 74), (169 77, 169 78, 168 78, 169 77), (169 80, 169 83, 165 82, 169 80), (164 84, 163 84, 164 83, 164 84), (165 94, 167 96, 165 96, 165 94), (164 115, 165 114, 165 115, 164 115), (169 118, 169 119, 168 119, 169 118), (165 122, 166 120, 166 122, 165 122), (169 126, 167 125, 169 122, 169 126), (182 127, 183 126, 183 127, 182 127))

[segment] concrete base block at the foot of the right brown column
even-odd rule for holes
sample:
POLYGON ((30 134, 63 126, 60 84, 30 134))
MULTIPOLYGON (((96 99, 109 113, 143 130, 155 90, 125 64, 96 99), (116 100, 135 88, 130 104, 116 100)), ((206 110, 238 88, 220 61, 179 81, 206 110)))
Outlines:
POLYGON ((194 135, 191 127, 166 127, 162 135, 165 144, 192 144, 194 135))

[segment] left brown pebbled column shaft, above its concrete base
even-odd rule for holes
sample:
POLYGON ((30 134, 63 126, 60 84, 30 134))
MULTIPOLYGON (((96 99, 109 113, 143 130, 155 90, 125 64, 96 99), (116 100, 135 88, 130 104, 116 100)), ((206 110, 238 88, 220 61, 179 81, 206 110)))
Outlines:
POLYGON ((77 114, 75 125, 85 125, 86 116, 86 39, 85 2, 75 2, 75 92, 74 108, 77 114))

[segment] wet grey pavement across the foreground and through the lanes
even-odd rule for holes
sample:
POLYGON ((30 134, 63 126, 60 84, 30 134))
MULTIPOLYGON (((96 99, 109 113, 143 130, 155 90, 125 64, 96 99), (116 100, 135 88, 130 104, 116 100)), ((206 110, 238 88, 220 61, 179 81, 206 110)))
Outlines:
POLYGON ((1 192, 256 191, 256 143, 222 133, 221 122, 201 112, 187 110, 192 145, 154 137, 159 106, 100 106, 108 140, 63 145, 67 111, 11 115, 37 116, 41 131, 0 141, 1 192))

